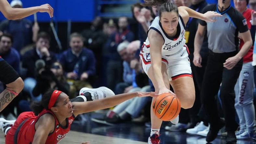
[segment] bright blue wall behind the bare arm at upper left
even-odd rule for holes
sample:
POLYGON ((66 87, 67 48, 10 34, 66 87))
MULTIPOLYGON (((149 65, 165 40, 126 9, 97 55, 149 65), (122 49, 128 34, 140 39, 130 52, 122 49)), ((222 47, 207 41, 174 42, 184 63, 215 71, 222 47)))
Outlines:
MULTIPOLYGON (((54 20, 57 21, 83 21, 88 22, 94 18, 95 0, 21 0, 23 7, 40 6, 42 4, 50 4, 54 8, 54 20)), ((8 0, 10 3, 11 0, 8 0)), ((2 13, 0 21, 5 19, 2 13)), ((28 17, 34 20, 33 16, 28 17)), ((37 13, 39 22, 50 21, 47 13, 37 13)))

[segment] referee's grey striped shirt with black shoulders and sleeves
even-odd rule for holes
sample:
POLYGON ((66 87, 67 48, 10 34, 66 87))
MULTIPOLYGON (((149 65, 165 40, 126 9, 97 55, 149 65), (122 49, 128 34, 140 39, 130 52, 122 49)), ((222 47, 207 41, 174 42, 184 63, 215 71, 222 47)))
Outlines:
POLYGON ((207 26, 208 47, 214 53, 228 53, 238 51, 240 33, 248 30, 246 19, 232 6, 223 12, 219 12, 218 4, 206 6, 202 13, 215 11, 222 15, 217 17, 216 22, 206 22, 200 20, 202 26, 207 26))

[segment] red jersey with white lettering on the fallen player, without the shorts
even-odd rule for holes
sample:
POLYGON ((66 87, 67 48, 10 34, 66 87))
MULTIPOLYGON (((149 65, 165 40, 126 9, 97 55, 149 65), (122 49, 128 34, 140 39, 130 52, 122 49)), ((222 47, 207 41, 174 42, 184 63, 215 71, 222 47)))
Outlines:
POLYGON ((52 111, 43 110, 38 116, 30 117, 25 121, 25 123, 20 127, 18 134, 18 143, 30 144, 33 142, 35 135, 35 123, 38 119, 44 114, 52 114, 55 118, 55 127, 54 131, 50 133, 46 139, 45 144, 57 144, 62 138, 64 138, 70 131, 70 125, 72 124, 75 116, 72 115, 69 118, 66 118, 67 126, 63 127, 59 124, 58 119, 52 111))

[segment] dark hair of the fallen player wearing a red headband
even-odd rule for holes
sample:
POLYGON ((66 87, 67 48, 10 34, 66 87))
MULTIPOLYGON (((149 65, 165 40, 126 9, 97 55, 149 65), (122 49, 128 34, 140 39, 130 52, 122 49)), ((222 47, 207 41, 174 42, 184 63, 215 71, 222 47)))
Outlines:
MULTIPOLYGON (((53 91, 54 91, 53 89, 47 90, 45 94, 42 96, 42 100, 40 102, 33 101, 31 103, 30 108, 32 109, 35 115, 38 115, 40 112, 43 111, 43 109, 48 110, 48 104, 50 102, 53 91)), ((57 102, 58 102, 58 99, 55 102, 54 106, 56 106, 57 102)))

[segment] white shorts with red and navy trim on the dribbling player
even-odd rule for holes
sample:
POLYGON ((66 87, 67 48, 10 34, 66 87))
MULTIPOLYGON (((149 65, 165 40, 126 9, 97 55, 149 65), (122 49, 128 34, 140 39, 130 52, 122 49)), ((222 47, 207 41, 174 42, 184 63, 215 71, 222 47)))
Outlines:
MULTIPOLYGON (((164 63, 167 67, 169 81, 180 77, 192 77, 192 71, 188 55, 189 51, 186 45, 184 45, 182 49, 175 54, 162 55, 162 63, 164 63)), ((143 52, 142 49, 140 52, 140 58, 142 60, 143 70, 147 74, 148 69, 151 66, 150 53, 143 52)))

